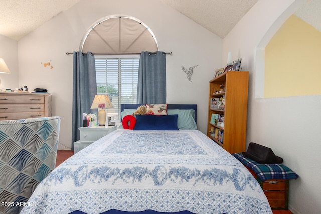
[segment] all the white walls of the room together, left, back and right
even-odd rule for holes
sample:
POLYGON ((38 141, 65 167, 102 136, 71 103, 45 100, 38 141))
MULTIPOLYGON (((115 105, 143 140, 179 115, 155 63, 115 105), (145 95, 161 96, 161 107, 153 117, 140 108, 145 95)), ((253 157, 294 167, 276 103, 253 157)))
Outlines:
POLYGON ((264 44, 303 2, 259 0, 222 43, 222 39, 161 1, 110 0, 107 4, 103 0, 82 0, 19 41, 19 82, 17 42, 0 35, 0 55, 12 72, 0 75, 0 88, 47 88, 53 95, 53 115, 62 117, 59 148, 66 149, 62 144, 70 147, 72 56, 65 53, 78 50, 84 33, 96 20, 127 14, 152 29, 161 51, 173 52, 167 56, 168 103, 198 104, 198 126, 205 133, 208 81, 215 69, 226 64, 227 53, 232 52, 233 59, 242 58, 243 70, 250 72, 247 144, 256 142, 271 147, 285 165, 299 174, 297 180, 290 181, 292 212, 320 213, 317 152, 321 144, 317 141, 321 138, 321 97, 258 98, 264 77, 264 61, 258 57, 262 57, 264 44), (47 62, 53 69, 41 64, 47 62), (192 82, 181 70, 182 65, 199 65, 194 69, 192 82))

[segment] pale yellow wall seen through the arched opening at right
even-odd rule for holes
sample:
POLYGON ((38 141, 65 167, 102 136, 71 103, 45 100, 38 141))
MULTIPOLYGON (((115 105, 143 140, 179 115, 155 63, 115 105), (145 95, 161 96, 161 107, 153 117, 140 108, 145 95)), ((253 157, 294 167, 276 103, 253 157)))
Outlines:
POLYGON ((292 15, 265 47, 264 97, 321 94, 321 32, 292 15))

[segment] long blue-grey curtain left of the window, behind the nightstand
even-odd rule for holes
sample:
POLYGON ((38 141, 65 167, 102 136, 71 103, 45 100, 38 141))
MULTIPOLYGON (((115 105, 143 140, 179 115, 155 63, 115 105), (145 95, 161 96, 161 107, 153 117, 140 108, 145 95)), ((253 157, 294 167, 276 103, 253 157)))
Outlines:
MULTIPOLYGON (((78 128, 83 126, 82 114, 96 113, 90 107, 97 94, 97 86, 94 55, 91 52, 74 52, 73 57, 72 142, 76 142, 80 139, 78 128)), ((73 143, 71 150, 74 150, 73 143)))

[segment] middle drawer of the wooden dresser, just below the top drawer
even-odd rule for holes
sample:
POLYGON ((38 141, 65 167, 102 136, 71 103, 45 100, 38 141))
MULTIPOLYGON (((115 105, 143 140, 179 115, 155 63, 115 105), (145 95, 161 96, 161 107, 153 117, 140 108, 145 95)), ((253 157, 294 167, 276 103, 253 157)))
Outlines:
POLYGON ((45 111, 44 104, 1 104, 0 113, 7 112, 43 112, 45 111))

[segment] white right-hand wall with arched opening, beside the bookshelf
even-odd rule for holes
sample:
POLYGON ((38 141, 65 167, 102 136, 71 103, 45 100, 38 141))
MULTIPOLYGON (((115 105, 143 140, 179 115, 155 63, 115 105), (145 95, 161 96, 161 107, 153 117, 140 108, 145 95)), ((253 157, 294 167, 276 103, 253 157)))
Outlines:
POLYGON ((259 0, 224 38, 222 59, 226 62, 230 51, 235 59, 242 58, 243 70, 250 71, 247 144, 256 142, 272 148, 299 175, 290 181, 289 208, 302 214, 321 213, 321 96, 256 97, 262 95, 264 61, 259 57, 264 56, 264 45, 304 2, 259 0))

